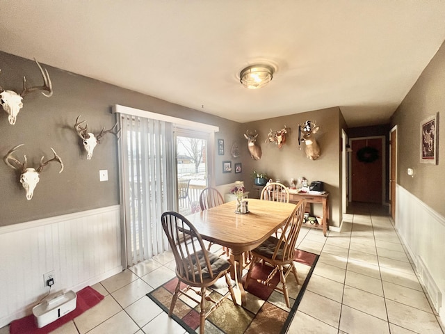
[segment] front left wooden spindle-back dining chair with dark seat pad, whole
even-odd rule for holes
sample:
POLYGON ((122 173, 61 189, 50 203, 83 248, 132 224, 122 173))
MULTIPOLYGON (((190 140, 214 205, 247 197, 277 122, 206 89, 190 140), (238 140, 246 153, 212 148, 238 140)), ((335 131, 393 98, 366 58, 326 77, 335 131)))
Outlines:
POLYGON ((195 303, 200 304, 200 334, 204 333, 204 323, 206 318, 218 308, 221 303, 232 296, 234 305, 236 298, 232 287, 229 270, 230 262, 210 253, 204 246, 202 237, 195 227, 184 216, 177 212, 164 212, 161 216, 162 228, 167 235, 168 243, 175 255, 176 276, 178 283, 173 294, 172 302, 168 316, 171 317, 179 294, 182 294, 195 303), (206 288, 210 287, 219 278, 225 277, 229 292, 220 297, 218 301, 206 295, 206 288), (181 289, 181 283, 186 287, 181 289), (196 289, 198 288, 198 289, 196 289), (198 296, 200 301, 193 298, 192 294, 187 292, 192 290, 198 296), (213 303, 209 310, 205 308, 205 301, 213 303))

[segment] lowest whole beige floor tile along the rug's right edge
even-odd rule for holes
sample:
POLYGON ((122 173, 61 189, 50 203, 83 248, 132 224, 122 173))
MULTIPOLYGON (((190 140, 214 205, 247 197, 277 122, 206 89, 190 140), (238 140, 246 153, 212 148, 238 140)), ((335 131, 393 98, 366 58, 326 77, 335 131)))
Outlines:
POLYGON ((298 305, 298 311, 335 328, 339 327, 341 303, 332 299, 307 291, 298 305))

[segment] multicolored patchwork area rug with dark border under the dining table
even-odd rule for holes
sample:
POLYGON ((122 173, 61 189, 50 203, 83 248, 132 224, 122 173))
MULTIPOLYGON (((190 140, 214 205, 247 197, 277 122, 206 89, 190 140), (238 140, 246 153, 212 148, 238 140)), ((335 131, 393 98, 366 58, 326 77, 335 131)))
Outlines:
MULTIPOLYGON (((286 279, 289 289, 291 308, 286 307, 286 301, 281 292, 265 287, 256 280, 250 280, 247 291, 247 305, 235 306, 231 300, 226 299, 219 308, 209 315, 205 323, 205 333, 211 334, 271 334, 286 333, 302 299, 309 278, 314 271, 318 255, 304 250, 296 251, 296 267, 299 285, 292 273, 286 279)), ((252 278, 265 279, 272 269, 268 266, 256 264, 252 271, 252 278)), ((275 283, 280 278, 275 275, 275 283)), ((245 276, 243 277, 245 282, 245 276)), ((147 296, 168 313, 172 296, 175 293, 177 278, 173 278, 164 285, 149 292, 147 296)), ((184 288, 181 286, 181 289, 184 288)), ((227 292, 225 279, 218 280, 211 287, 213 299, 218 299, 227 292), (221 293, 221 294, 220 294, 221 293)), ((236 289, 235 289, 236 293, 236 289)), ((196 296, 199 300, 200 297, 196 296)), ((200 306, 185 296, 180 296, 172 315, 188 333, 199 332, 200 306)))

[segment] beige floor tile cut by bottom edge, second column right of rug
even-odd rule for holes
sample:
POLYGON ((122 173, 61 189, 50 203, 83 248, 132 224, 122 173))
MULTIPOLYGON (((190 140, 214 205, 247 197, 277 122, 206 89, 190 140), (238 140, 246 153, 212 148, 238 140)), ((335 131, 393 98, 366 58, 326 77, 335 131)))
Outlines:
POLYGON ((373 317, 349 306, 341 308, 340 328, 341 331, 353 334, 389 334, 387 321, 373 317))

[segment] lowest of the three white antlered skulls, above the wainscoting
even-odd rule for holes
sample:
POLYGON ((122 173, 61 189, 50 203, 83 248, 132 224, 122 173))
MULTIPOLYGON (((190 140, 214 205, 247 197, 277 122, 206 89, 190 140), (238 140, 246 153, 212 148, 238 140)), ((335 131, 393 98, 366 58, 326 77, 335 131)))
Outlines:
POLYGON ((15 148, 12 148, 8 154, 3 157, 3 161, 5 161, 5 164, 10 166, 10 168, 13 168, 15 170, 19 170, 21 172, 20 174, 20 183, 22 184, 23 188, 26 191, 26 199, 31 200, 33 198, 33 193, 35 186, 40 181, 40 173, 42 173, 43 167, 49 164, 50 161, 57 161, 60 164, 60 171, 58 173, 62 173, 63 171, 63 161, 60 159, 60 157, 57 155, 56 151, 54 151, 53 148, 51 148, 51 151, 54 153, 54 158, 49 159, 47 161, 43 161, 44 156, 42 159, 40 159, 40 166, 35 169, 31 167, 27 167, 27 159, 26 155, 23 156, 23 164, 15 157, 13 157, 13 153, 24 144, 20 144, 15 146, 15 148), (13 162, 15 165, 10 164, 10 161, 13 162))

